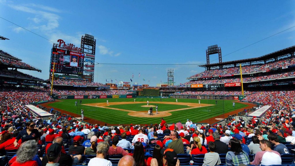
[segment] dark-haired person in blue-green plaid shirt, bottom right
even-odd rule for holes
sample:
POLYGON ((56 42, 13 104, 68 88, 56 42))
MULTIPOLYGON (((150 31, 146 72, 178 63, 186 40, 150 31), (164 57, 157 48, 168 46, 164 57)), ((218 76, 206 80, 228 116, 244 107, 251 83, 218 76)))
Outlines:
POLYGON ((228 143, 228 147, 230 147, 230 151, 226 154, 226 165, 227 166, 237 166, 239 164, 249 165, 250 160, 249 156, 246 152, 242 150, 242 146, 240 141, 237 139, 230 139, 228 143))

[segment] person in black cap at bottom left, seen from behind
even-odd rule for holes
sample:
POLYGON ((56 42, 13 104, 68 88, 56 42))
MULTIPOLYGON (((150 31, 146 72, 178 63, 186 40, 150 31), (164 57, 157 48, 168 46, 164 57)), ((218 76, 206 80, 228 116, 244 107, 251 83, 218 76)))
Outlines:
POLYGON ((58 143, 54 143, 50 145, 47 149, 46 157, 48 159, 48 163, 46 166, 58 166, 58 161, 60 160, 61 146, 58 143))

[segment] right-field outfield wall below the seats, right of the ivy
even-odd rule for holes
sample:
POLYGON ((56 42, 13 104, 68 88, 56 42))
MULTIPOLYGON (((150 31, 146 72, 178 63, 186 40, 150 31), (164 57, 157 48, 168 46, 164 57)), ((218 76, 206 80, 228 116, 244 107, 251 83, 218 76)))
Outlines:
POLYGON ((222 95, 170 95, 170 98, 176 99, 214 99, 214 100, 242 100, 243 96, 222 96, 222 95))

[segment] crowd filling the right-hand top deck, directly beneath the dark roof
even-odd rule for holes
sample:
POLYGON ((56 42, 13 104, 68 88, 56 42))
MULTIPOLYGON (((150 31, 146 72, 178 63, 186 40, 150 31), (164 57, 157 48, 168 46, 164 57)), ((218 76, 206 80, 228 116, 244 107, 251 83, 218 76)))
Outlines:
MULTIPOLYGON (((275 68, 281 68, 285 66, 290 66, 295 64, 295 57, 283 58, 278 61, 268 62, 266 64, 253 64, 242 66, 243 73, 253 73, 258 71, 270 70, 275 68)), ((189 78, 196 77, 213 77, 213 76, 222 76, 228 74, 240 74, 240 67, 229 67, 223 69, 212 69, 207 70, 198 74, 195 74, 189 78)))

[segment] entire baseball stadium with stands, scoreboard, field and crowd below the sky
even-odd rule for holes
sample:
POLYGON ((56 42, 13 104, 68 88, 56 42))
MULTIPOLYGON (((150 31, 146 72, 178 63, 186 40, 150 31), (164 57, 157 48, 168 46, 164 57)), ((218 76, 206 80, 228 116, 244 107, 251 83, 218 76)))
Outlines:
MULTIPOLYGON (((186 81, 176 84, 179 69, 169 67, 155 86, 140 82, 138 71, 130 80, 95 81, 102 46, 91 34, 80 35, 81 43, 47 39, 53 43, 46 50, 50 60, 44 63, 26 61, 0 45, 0 165, 120 166, 123 156, 131 156, 136 166, 201 166, 210 152, 218 160, 210 159, 214 163, 208 165, 294 164, 294 44, 231 61, 222 60, 221 48, 228 48, 224 43, 206 45, 197 57, 206 59, 196 66, 201 72, 183 75, 186 81), (216 56, 218 62, 212 63, 210 58, 216 56), (37 63, 49 67, 46 79, 26 74, 42 72, 31 65, 37 63), (181 148, 175 145, 178 140, 181 148), (253 145, 259 148, 253 150, 253 145), (28 153, 21 161, 25 148, 32 149, 32 156, 28 153), (261 157, 264 151, 272 153, 273 163, 261 157), (68 159, 58 158, 63 155, 68 159)), ((120 64, 111 54, 114 65, 120 64)), ((148 70, 147 64, 135 65, 148 70)))

